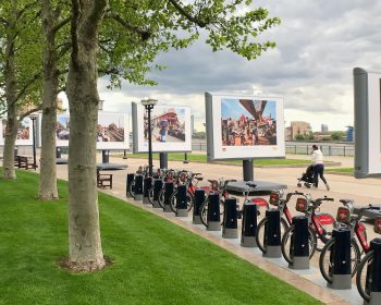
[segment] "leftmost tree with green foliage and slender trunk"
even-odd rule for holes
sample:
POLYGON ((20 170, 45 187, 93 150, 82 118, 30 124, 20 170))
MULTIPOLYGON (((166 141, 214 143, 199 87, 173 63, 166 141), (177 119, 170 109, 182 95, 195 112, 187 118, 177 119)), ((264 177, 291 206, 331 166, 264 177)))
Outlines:
POLYGON ((20 122, 38 109, 40 99, 40 44, 36 1, 0 3, 0 103, 7 113, 3 176, 15 179, 14 144, 20 122), (24 106, 29 105, 28 109, 24 106))

